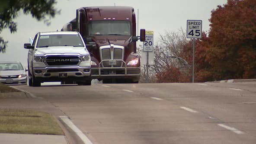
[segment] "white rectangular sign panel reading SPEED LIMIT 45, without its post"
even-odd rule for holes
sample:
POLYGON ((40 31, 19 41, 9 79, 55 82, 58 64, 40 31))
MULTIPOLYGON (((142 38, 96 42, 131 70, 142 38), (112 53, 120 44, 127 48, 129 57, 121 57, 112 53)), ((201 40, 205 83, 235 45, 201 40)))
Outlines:
POLYGON ((202 20, 187 20, 187 38, 202 38, 202 20))

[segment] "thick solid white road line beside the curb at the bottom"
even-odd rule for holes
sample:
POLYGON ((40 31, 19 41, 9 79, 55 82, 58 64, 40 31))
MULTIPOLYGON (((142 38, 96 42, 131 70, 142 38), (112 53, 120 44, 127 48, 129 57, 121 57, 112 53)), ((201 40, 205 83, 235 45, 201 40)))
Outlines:
POLYGON ((87 138, 80 129, 78 129, 73 122, 70 121, 70 119, 67 116, 59 116, 63 122, 65 122, 66 125, 68 125, 81 140, 84 144, 93 144, 89 138, 87 138))

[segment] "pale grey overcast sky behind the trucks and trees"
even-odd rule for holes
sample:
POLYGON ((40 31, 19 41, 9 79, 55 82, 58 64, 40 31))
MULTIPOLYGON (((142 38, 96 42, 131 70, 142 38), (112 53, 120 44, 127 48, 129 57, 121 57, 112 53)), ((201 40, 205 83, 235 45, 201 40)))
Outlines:
POLYGON ((80 7, 132 6, 136 19, 139 10, 139 29, 154 31, 154 43, 156 43, 159 34, 165 31, 177 31, 181 27, 186 31, 188 19, 202 20, 202 30, 208 31, 211 10, 227 3, 227 0, 57 0, 57 2, 56 7, 61 9, 61 14, 51 19, 50 26, 46 26, 42 21, 38 22, 30 15, 19 13, 18 18, 14 20, 18 22, 17 32, 10 34, 10 30, 6 29, 0 34, 9 41, 6 53, 0 53, 0 61, 20 61, 24 67, 27 67, 28 50, 23 48, 23 44, 29 42, 29 37, 34 38, 37 32, 60 30, 65 23, 75 18, 76 9, 80 7))

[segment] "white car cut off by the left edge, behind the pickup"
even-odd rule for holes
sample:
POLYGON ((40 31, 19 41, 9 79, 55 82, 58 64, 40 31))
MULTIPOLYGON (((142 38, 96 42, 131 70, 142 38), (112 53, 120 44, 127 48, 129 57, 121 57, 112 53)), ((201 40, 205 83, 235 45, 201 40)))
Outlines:
POLYGON ((0 82, 6 85, 26 85, 26 71, 18 61, 0 62, 0 82))

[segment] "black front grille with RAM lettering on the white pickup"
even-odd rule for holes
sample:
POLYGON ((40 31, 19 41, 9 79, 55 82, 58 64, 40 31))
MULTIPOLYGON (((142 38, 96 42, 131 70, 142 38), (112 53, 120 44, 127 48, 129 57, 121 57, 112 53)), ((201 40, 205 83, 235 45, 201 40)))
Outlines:
POLYGON ((79 56, 47 56, 45 61, 49 66, 77 65, 80 61, 80 57, 79 56))

